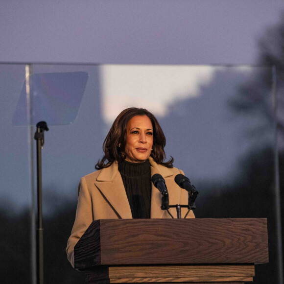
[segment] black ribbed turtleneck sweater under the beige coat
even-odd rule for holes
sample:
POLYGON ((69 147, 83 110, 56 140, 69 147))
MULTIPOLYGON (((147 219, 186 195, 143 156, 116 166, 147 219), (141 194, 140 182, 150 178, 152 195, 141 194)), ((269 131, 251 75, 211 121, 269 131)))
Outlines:
POLYGON ((151 169, 150 162, 118 164, 133 219, 150 218, 151 169))

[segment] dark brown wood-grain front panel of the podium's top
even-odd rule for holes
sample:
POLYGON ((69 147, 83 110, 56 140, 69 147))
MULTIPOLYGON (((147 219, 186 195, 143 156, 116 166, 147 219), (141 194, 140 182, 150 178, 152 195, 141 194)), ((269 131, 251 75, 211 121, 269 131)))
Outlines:
POLYGON ((100 220, 101 264, 266 263, 266 219, 100 220))

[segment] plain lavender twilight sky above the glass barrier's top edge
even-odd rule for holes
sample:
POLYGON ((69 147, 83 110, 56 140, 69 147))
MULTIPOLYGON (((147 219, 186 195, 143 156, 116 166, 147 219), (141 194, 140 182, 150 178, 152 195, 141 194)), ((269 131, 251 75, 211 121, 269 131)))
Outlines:
POLYGON ((283 0, 2 0, 0 62, 254 64, 283 0))

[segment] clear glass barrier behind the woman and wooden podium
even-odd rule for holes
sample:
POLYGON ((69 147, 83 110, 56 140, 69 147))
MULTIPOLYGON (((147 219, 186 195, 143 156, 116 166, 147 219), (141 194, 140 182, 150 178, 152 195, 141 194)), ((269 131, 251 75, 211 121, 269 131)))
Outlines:
MULTIPOLYGON (((14 127, 12 118, 16 125, 27 124, 25 71, 13 65, 0 65, 0 71, 1 217, 5 232, 14 228, 22 236, 22 224, 29 222, 30 165, 26 128, 14 127)), ((130 106, 157 116, 167 157, 174 157, 174 166, 199 191, 197 217, 267 217, 275 240, 273 80, 263 80, 272 78, 270 68, 33 65, 33 71, 32 124, 47 120, 48 126, 56 125, 49 127, 42 152, 45 263, 47 271, 55 272, 46 273, 47 283, 83 282, 64 252, 78 182, 95 170, 110 124, 130 106), (74 121, 77 111, 76 121, 63 125, 74 121)), ((11 254, 11 236, 4 237, 5 259, 24 267, 21 276, 29 279, 29 264, 23 266, 26 251, 11 254)), ((258 271, 263 279, 276 274, 273 247, 270 253, 267 270, 258 271)))

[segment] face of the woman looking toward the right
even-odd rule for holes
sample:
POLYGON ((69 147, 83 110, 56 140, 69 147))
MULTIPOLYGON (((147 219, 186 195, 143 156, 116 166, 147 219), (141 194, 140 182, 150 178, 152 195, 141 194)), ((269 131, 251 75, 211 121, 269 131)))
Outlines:
POLYGON ((153 146, 153 125, 147 116, 135 116, 127 123, 125 160, 141 163, 147 160, 153 146))

